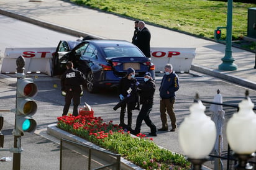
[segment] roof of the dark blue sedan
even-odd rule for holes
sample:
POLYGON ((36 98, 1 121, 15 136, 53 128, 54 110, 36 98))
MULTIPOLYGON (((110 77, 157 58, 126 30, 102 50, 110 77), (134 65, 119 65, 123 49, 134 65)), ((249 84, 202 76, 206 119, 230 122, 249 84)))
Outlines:
POLYGON ((86 42, 93 43, 98 47, 135 47, 134 44, 126 40, 86 40, 86 42))

